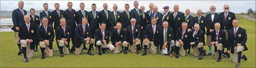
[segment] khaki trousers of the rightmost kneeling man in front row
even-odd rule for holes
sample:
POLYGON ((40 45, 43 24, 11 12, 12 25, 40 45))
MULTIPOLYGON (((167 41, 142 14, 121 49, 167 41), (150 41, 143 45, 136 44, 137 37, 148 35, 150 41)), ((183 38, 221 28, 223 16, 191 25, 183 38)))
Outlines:
MULTIPOLYGON (((237 46, 234 48, 234 54, 232 54, 232 62, 237 63, 238 62, 238 52, 243 52, 244 46, 237 46)), ((242 56, 242 55, 241 55, 242 56)))

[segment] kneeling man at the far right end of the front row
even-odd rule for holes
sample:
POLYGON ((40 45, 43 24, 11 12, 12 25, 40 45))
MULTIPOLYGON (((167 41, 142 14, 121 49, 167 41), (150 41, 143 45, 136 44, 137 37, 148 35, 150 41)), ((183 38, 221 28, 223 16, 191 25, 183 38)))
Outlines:
POLYGON ((232 24, 234 28, 229 30, 228 33, 227 52, 232 53, 232 62, 238 62, 235 67, 240 67, 240 60, 244 59, 246 61, 248 59, 245 54, 241 57, 242 52, 248 50, 246 46, 247 33, 244 28, 238 26, 239 21, 237 19, 234 19, 232 24))

